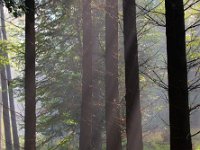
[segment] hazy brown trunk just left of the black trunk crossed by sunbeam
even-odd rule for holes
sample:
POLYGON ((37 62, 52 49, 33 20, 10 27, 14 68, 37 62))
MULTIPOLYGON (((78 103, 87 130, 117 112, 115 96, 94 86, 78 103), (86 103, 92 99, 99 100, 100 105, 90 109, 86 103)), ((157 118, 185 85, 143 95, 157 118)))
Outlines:
POLYGON ((106 1, 106 149, 121 150, 118 91, 118 1, 106 1))

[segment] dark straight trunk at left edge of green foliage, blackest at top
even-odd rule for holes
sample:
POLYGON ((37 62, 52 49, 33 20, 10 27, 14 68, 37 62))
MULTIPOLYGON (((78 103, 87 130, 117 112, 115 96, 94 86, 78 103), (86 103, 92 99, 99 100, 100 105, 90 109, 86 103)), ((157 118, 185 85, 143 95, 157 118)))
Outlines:
POLYGON ((26 0, 25 18, 25 150, 36 149, 35 1, 26 0))

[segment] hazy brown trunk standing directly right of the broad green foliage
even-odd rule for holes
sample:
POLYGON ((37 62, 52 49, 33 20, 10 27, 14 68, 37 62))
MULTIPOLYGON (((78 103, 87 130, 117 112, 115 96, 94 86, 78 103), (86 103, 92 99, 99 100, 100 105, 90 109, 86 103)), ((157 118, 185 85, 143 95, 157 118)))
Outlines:
POLYGON ((82 104, 80 150, 91 150, 92 143, 92 17, 91 0, 83 0, 82 104))

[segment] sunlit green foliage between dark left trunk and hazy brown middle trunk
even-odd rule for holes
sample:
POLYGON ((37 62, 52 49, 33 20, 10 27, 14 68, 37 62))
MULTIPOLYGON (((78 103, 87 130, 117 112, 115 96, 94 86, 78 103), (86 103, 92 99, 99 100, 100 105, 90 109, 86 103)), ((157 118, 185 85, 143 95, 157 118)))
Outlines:
POLYGON ((74 26, 79 5, 64 0, 43 3, 36 18, 37 132, 42 137, 38 146, 61 150, 77 146, 73 142, 79 133, 81 46, 78 25, 74 26))

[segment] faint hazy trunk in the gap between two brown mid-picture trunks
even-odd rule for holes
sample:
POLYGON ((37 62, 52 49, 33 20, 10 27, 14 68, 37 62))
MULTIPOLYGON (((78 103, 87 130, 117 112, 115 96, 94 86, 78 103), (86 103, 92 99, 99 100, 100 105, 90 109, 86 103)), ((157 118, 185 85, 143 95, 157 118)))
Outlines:
MULTIPOLYGON (((93 102, 93 117, 92 117, 92 150, 102 150, 102 98, 101 98, 101 90, 102 90, 102 64, 101 64, 101 49, 99 45, 99 29, 101 26, 98 22, 99 12, 93 10, 93 55, 92 55, 92 71, 93 71, 93 91, 92 91, 92 102, 93 102)), ((102 71, 103 72, 103 71, 102 71)))

